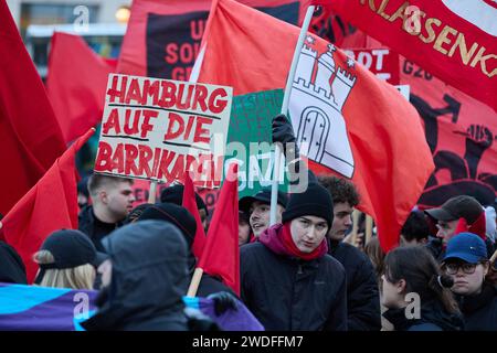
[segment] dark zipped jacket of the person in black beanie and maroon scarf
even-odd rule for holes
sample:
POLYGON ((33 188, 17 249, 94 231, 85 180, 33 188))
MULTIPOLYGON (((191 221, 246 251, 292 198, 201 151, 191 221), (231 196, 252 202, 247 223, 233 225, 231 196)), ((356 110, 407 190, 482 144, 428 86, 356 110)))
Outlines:
POLYGON ((265 231, 273 244, 240 248, 242 300, 269 331, 347 330, 343 267, 327 254, 306 261, 275 253, 282 229, 265 231))

